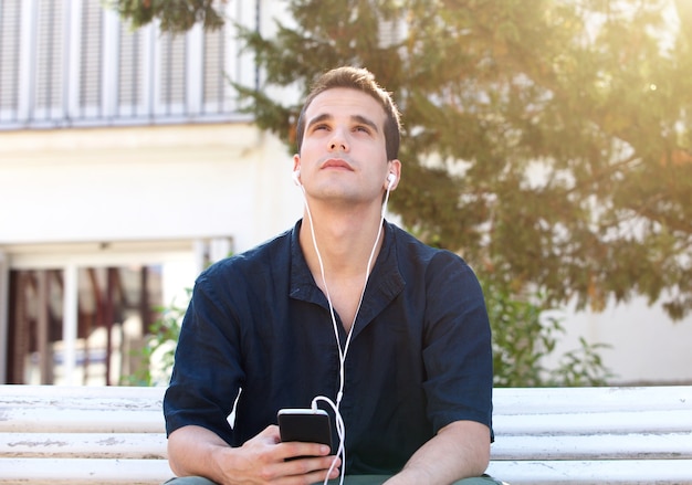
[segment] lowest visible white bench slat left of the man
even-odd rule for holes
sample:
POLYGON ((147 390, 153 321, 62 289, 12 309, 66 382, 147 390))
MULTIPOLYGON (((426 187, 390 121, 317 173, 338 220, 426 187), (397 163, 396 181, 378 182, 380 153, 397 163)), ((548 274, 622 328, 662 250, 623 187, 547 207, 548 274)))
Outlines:
POLYGON ((0 458, 0 484, 160 485, 172 476, 165 460, 0 458))

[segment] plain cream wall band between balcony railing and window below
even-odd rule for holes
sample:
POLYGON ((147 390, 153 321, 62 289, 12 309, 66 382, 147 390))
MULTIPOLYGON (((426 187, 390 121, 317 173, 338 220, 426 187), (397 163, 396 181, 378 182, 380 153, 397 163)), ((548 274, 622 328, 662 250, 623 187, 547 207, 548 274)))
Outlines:
POLYGON ((232 236, 302 214, 292 160, 250 125, 0 134, 0 245, 232 236))

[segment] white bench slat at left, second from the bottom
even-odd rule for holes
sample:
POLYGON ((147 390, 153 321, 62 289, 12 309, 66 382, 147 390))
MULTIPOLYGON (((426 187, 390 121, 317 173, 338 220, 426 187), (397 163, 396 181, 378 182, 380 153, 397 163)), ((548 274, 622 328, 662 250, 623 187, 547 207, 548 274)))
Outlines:
POLYGON ((166 460, 162 433, 0 433, 3 457, 166 460))

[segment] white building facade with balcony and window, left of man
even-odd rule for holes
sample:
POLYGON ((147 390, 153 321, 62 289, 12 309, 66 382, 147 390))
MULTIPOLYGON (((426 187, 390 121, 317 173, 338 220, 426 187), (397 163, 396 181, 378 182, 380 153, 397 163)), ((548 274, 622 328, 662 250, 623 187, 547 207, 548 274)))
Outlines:
MULTIPOLYGON (((224 8, 260 29, 268 3, 224 8)), ((0 1, 0 381, 120 382, 150 308, 302 214, 291 154, 228 82, 256 76, 230 28, 0 1)))

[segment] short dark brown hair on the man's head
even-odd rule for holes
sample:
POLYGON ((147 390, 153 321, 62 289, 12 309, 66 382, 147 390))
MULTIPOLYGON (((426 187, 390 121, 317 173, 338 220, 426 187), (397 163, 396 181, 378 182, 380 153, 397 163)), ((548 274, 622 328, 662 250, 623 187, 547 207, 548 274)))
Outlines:
POLYGON ((360 91, 373 96, 380 106, 385 109, 387 115, 385 119, 385 144, 387 147, 387 160, 395 160, 399 156, 399 143, 401 139, 401 122, 399 109, 391 99, 391 95, 381 88, 375 81, 375 76, 366 68, 359 67, 337 67, 321 75, 313 84, 312 89, 303 108, 298 116, 298 123, 296 126, 296 144, 298 154, 301 152, 301 146, 303 145, 303 134, 305 131, 305 110, 311 105, 313 99, 318 94, 324 93, 327 89, 335 87, 346 87, 350 89, 360 91))

